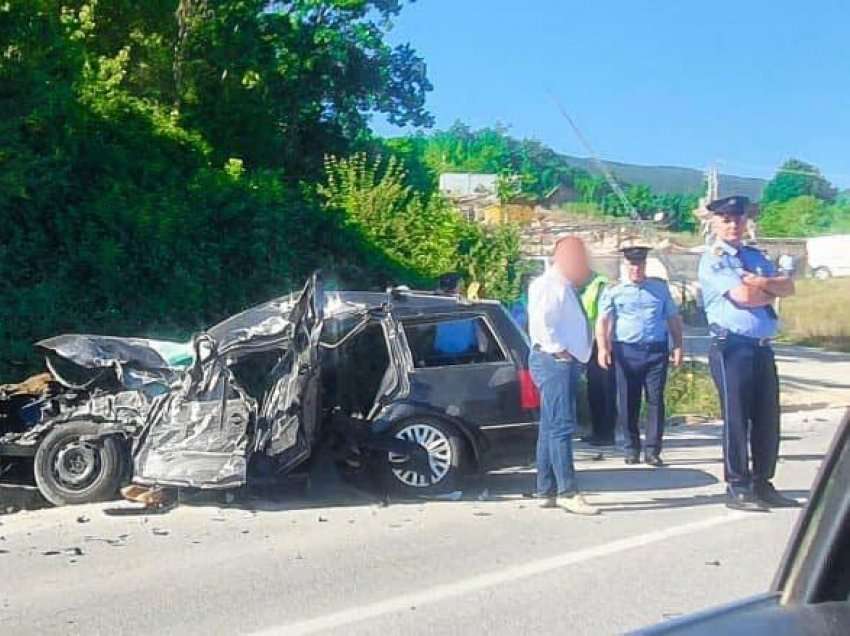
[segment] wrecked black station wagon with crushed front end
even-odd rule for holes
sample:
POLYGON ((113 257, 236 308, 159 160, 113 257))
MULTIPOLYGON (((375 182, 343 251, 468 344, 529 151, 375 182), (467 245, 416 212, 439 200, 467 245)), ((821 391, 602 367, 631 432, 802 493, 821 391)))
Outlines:
POLYGON ((64 335, 48 372, 0 388, 0 472, 31 461, 53 504, 122 483, 235 488, 332 446, 405 494, 526 462, 538 398, 528 343, 497 302, 393 289, 298 295, 189 343, 64 335))

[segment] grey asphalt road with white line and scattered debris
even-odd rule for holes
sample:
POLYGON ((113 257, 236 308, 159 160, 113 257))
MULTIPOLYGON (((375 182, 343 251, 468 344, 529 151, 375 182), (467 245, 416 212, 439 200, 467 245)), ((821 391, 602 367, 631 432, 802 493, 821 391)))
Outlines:
MULTIPOLYGON (((807 495, 841 415, 785 416, 781 489, 807 495)), ((672 429, 663 469, 580 452, 597 518, 539 509, 522 470, 461 501, 0 516, 0 633, 621 633, 770 584, 799 513, 727 510, 718 433, 672 429)))

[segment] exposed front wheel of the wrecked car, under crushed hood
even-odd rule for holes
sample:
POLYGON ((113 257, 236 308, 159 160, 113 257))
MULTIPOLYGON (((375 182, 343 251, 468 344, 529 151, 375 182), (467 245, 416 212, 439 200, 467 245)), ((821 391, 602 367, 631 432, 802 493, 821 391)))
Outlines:
POLYGON ((81 439, 99 432, 93 422, 72 422, 58 425, 44 437, 34 472, 47 501, 65 506, 115 497, 129 462, 124 444, 115 436, 97 442, 81 439))

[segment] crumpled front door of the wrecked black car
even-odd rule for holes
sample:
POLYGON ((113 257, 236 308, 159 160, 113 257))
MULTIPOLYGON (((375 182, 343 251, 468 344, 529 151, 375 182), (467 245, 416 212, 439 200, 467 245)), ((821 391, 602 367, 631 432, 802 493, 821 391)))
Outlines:
MULTIPOLYGON (((246 481, 252 452, 270 447, 280 454, 291 448, 290 437, 297 438, 301 428, 290 421, 291 415, 297 411, 300 422, 301 410, 295 408, 301 404, 300 392, 309 393, 306 380, 318 376, 318 365, 311 368, 305 361, 316 358, 309 350, 317 346, 322 305, 321 282, 314 275, 288 319, 266 317, 257 328, 240 328, 242 336, 218 349, 208 334, 196 339, 196 364, 184 374, 182 385, 148 416, 136 447, 134 481, 195 488, 240 486, 246 481), (211 355, 203 354, 204 344, 213 348, 211 355), (260 411, 229 368, 240 356, 274 349, 284 351, 270 375, 272 386, 280 387, 276 395, 285 398, 282 415, 267 408, 268 400, 262 400, 260 411)), ((315 428, 315 417, 304 428, 311 427, 315 428)))

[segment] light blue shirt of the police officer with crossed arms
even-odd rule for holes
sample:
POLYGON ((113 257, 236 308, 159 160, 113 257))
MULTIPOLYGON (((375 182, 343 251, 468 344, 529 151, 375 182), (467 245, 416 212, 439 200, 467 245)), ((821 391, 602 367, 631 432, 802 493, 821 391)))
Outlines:
POLYGON ((741 285, 741 276, 775 276, 776 267, 761 250, 735 248, 722 241, 710 246, 699 262, 699 282, 708 324, 728 329, 739 336, 772 338, 779 328, 776 314, 767 307, 741 307, 729 292, 741 285))

